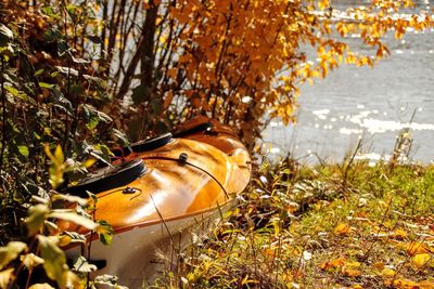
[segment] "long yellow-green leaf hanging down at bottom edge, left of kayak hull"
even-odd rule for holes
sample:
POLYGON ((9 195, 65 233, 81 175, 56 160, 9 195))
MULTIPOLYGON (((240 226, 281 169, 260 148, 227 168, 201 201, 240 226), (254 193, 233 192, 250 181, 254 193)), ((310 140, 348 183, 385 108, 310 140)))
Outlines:
POLYGON ((44 260, 43 268, 47 276, 55 280, 59 287, 64 288, 67 280, 68 266, 66 257, 61 248, 58 247, 59 238, 38 235, 41 257, 44 260))

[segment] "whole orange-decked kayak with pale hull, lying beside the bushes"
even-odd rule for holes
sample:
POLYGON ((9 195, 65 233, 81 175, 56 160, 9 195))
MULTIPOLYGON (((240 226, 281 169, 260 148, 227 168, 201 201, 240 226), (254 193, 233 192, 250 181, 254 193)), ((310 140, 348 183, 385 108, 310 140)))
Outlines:
MULTIPOLYGON (((157 264, 176 263, 191 232, 208 228, 233 205, 250 182, 251 157, 230 128, 206 117, 117 155, 113 167, 68 188, 78 196, 97 194, 93 215, 113 226, 112 244, 88 236, 91 246, 71 247, 66 255, 90 257, 99 267, 94 276, 117 276, 120 285, 140 288, 157 264)), ((74 223, 60 226, 87 234, 74 223)))

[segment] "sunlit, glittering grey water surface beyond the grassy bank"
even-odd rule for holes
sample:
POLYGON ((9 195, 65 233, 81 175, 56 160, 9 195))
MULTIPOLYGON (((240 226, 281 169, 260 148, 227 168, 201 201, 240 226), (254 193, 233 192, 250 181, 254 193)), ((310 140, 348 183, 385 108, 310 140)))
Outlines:
MULTIPOLYGON (((430 2, 419 5, 426 8, 430 2)), ((355 51, 366 50, 357 36, 346 41, 355 51)), ((316 162, 315 153, 340 161, 362 139, 366 154, 361 157, 374 161, 387 157, 399 131, 409 127, 413 139, 410 156, 433 162, 434 30, 409 31, 401 40, 391 34, 385 42, 391 56, 373 69, 343 64, 326 79, 304 84, 297 123, 284 127, 275 120, 264 132, 269 156, 291 154, 304 162, 316 162)))

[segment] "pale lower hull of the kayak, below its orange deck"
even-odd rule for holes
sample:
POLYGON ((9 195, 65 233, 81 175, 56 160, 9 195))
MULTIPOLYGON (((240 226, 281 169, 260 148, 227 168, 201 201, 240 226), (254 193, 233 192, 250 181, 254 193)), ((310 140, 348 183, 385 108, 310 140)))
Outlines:
POLYGON ((116 276, 122 286, 142 288, 143 285, 151 285, 165 270, 175 270, 179 252, 192 242, 192 233, 207 232, 233 203, 232 200, 218 210, 210 209, 148 226, 132 227, 115 234, 108 246, 93 241, 90 253, 87 244, 71 248, 66 255, 71 259, 77 255, 90 257, 90 263, 100 266, 91 274, 91 278, 106 274, 116 276))

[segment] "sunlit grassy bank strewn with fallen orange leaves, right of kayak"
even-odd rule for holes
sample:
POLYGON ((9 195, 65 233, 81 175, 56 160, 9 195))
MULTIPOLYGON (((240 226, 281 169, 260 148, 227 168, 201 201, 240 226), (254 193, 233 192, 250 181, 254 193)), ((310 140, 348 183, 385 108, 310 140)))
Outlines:
POLYGON ((434 167, 258 168, 165 288, 434 288, 434 167))

